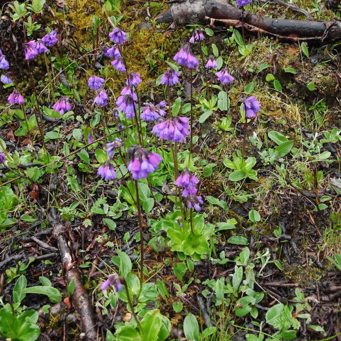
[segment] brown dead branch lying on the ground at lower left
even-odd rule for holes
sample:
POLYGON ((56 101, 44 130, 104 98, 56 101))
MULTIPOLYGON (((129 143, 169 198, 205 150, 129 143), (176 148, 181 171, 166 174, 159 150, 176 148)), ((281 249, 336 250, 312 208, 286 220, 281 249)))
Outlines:
POLYGON ((75 282, 72 303, 80 316, 82 331, 85 334, 86 340, 94 341, 96 340, 96 323, 94 321, 93 306, 90 302, 89 295, 84 288, 81 274, 72 259, 70 249, 67 246, 67 240, 63 235, 64 226, 57 219, 57 215, 53 210, 51 210, 49 220, 53 227, 53 232, 57 239, 59 252, 62 257, 65 281, 67 284, 73 280, 75 282))

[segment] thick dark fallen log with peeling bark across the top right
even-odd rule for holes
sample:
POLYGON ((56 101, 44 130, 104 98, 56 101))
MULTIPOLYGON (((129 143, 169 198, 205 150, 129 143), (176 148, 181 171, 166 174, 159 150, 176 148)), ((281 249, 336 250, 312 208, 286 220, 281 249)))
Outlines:
MULTIPOLYGON (((177 26, 210 25, 213 29, 242 27, 242 9, 226 0, 173 0, 170 13, 156 17, 157 22, 172 18, 177 26), (171 14, 171 16, 170 16, 171 14)), ((266 34, 289 41, 335 42, 341 40, 341 21, 289 20, 262 17, 245 12, 244 28, 251 34, 266 34)))

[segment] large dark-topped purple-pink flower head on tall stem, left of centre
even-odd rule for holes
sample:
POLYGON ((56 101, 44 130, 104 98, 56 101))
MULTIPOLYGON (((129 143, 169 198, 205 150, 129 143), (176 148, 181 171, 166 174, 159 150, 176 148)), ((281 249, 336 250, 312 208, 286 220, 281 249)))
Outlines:
POLYGON ((132 159, 127 169, 131 172, 132 178, 138 180, 148 177, 150 173, 157 170, 161 161, 160 155, 145 148, 136 147, 132 152, 132 159))

